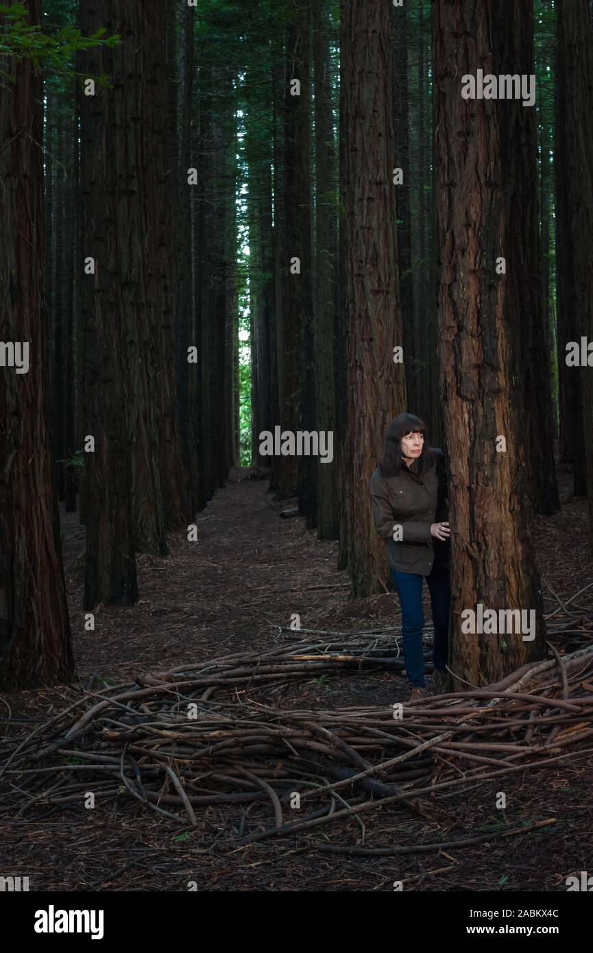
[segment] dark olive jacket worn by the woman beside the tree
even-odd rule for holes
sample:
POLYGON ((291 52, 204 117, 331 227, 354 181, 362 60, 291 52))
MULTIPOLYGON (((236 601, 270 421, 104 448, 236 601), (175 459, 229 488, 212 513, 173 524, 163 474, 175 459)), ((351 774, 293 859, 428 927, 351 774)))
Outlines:
POLYGON ((373 518, 379 537, 387 540, 392 569, 428 576, 435 559, 449 565, 449 540, 430 534, 432 523, 447 520, 447 471, 442 450, 430 448, 435 463, 421 476, 405 464, 398 476, 371 476, 373 518))

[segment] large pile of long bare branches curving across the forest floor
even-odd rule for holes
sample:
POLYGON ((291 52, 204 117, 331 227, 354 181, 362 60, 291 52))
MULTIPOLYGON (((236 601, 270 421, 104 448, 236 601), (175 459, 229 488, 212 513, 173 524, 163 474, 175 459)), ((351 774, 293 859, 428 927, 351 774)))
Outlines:
POLYGON ((447 821, 441 801, 449 795, 558 763, 593 735, 591 645, 563 657, 550 646, 552 659, 495 685, 389 708, 285 711, 260 700, 262 688, 322 672, 400 664, 388 658, 393 640, 347 642, 347 652, 344 638, 300 641, 87 691, 26 738, 5 744, 0 815, 80 809, 92 791, 97 804, 123 796, 195 827, 208 805, 236 805, 235 845, 348 815, 364 830, 359 816, 385 803, 447 821), (258 829, 246 833, 261 802, 271 805, 274 822, 263 820, 266 806, 250 821, 256 818, 258 829))

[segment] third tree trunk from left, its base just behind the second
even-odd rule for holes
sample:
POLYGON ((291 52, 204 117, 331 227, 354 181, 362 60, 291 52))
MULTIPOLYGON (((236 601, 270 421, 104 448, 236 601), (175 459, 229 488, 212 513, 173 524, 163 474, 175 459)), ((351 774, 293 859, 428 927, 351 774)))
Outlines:
MULTIPOLYGON (((102 7, 102 4, 99 4, 102 7)), ((122 284, 121 320, 126 329, 124 383, 127 438, 132 450, 134 541, 137 550, 166 556, 167 518, 161 481, 156 352, 160 335, 151 302, 154 256, 153 129, 155 30, 165 32, 165 6, 156 20, 133 0, 111 0, 115 32, 122 43, 113 48, 115 88, 109 91, 113 125, 109 128, 112 160, 119 178, 114 228, 117 269, 122 284)), ((161 63, 162 69, 162 63, 161 63)), ((157 79, 157 82, 160 80, 157 79)), ((106 101, 107 102, 107 101, 106 101)))

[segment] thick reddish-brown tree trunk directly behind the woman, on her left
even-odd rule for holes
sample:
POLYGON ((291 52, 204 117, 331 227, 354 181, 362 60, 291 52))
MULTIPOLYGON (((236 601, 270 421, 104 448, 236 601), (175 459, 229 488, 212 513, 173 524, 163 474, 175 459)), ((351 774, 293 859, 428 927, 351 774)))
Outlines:
POLYGON ((369 502, 387 426, 405 410, 396 239, 391 10, 344 8, 346 268, 348 274, 348 568, 355 598, 383 591, 385 544, 369 502))

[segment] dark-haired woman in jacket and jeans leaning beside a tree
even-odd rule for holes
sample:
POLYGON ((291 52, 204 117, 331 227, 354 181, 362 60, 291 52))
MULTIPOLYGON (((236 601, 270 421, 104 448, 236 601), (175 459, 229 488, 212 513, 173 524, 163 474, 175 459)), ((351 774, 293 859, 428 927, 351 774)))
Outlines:
POLYGON ((410 701, 426 696, 422 652, 422 580, 430 591, 435 635, 434 681, 441 692, 447 681, 449 631, 449 523, 447 474, 441 450, 426 445, 419 417, 399 414, 393 421, 371 476, 373 517, 387 540, 391 577, 399 594, 403 660, 410 701))

